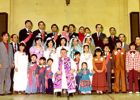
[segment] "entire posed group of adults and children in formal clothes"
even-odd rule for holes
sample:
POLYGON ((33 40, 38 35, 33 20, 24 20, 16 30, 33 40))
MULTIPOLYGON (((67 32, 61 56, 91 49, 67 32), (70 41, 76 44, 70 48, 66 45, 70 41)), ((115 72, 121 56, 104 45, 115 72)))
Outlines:
POLYGON ((9 34, 1 34, 0 95, 139 93, 140 37, 128 45, 125 34, 116 36, 110 27, 107 37, 101 24, 93 34, 84 26, 76 33, 74 24, 64 25, 61 34, 56 24, 52 33, 43 21, 32 27, 26 20, 10 43, 9 34))

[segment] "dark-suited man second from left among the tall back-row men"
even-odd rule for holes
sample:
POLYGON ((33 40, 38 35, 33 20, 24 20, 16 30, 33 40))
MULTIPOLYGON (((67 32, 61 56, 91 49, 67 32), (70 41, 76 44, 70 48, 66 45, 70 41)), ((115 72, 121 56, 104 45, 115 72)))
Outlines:
POLYGON ((43 21, 38 22, 38 29, 33 32, 33 39, 36 37, 41 37, 43 43, 45 43, 47 39, 47 32, 45 32, 46 25, 43 21))

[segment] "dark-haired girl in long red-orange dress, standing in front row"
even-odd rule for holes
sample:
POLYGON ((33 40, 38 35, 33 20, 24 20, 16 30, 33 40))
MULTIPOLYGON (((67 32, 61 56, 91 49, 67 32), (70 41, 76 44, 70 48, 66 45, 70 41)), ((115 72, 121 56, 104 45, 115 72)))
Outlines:
POLYGON ((92 81, 93 90, 97 94, 103 94, 107 91, 106 63, 100 47, 97 47, 94 53, 93 70, 95 72, 92 81))

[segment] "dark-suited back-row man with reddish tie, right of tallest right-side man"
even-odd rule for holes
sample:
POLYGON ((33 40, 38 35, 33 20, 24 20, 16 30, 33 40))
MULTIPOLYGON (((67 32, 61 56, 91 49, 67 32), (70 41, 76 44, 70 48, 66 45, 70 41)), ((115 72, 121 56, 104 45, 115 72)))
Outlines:
POLYGON ((112 52, 115 49, 115 44, 116 44, 116 41, 118 41, 118 37, 116 36, 115 27, 110 27, 109 32, 110 32, 110 36, 108 37, 109 46, 110 46, 110 50, 112 52))

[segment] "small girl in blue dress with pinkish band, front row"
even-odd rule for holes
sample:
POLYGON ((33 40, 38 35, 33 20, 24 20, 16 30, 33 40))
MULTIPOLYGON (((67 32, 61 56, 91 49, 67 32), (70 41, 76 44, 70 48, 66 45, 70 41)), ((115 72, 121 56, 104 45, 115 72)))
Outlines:
POLYGON ((79 72, 79 76, 81 76, 80 84, 79 84, 79 91, 82 94, 91 94, 92 86, 90 82, 90 77, 93 73, 90 72, 88 69, 88 65, 86 62, 82 63, 81 70, 79 72))

